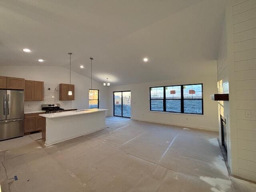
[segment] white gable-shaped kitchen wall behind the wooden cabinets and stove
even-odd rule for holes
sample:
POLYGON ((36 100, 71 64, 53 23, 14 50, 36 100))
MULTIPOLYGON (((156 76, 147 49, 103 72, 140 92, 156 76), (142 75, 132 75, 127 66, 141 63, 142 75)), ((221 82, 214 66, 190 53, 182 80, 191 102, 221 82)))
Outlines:
MULTIPOLYGON (((60 83, 69 83, 69 70, 58 66, 0 66, 0 76, 20 77, 26 80, 38 80, 44 82, 45 96, 53 94, 54 89, 60 83)), ((28 108, 41 109, 42 103, 60 102, 64 108, 85 109, 88 104, 88 90, 90 88, 90 78, 82 76, 71 71, 71 84, 75 85, 75 100, 74 101, 59 101, 58 98, 50 100, 47 98, 42 102, 25 102, 26 110, 28 108)), ((92 88, 100 90, 100 108, 107 108, 107 89, 99 82, 92 81, 92 88)), ((58 96, 58 92, 56 94, 58 96)))

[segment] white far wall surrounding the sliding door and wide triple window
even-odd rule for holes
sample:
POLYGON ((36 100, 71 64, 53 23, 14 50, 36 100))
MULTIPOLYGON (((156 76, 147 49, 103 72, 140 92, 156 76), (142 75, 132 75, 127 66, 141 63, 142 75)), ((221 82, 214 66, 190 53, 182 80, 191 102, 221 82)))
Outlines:
MULTIPOLYGON (((193 63, 191 62, 191 65, 193 63)), ((194 64, 194 66, 197 66, 194 64)), ((187 73, 186 73, 187 74, 187 73)), ((131 76, 132 78, 132 76, 131 76)), ((149 77, 150 79, 150 77, 149 77)), ((216 61, 202 62, 200 67, 190 71, 190 75, 179 79, 161 82, 147 82, 124 86, 111 86, 109 88, 108 116, 113 115, 113 92, 131 91, 131 118, 146 120, 208 130, 218 130, 218 105, 210 99, 210 95, 217 93, 217 66, 216 61), (165 112, 152 112, 149 110, 149 88, 154 86, 171 86, 179 84, 203 83, 204 115, 175 114, 165 112)))

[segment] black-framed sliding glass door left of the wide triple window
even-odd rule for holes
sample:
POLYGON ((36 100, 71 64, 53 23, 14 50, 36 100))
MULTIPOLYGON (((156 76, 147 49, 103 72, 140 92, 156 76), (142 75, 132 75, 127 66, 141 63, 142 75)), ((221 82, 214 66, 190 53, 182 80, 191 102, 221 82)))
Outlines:
POLYGON ((114 92, 114 116, 131 117, 131 91, 114 92))

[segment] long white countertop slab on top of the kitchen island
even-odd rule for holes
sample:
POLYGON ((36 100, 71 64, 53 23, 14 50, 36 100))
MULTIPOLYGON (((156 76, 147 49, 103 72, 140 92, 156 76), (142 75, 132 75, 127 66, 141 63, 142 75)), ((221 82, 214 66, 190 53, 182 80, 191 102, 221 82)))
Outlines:
POLYGON ((106 110, 108 109, 81 109, 76 111, 64 111, 59 113, 39 114, 39 116, 51 119, 51 118, 58 118, 58 117, 96 113, 96 112, 106 111, 106 110))

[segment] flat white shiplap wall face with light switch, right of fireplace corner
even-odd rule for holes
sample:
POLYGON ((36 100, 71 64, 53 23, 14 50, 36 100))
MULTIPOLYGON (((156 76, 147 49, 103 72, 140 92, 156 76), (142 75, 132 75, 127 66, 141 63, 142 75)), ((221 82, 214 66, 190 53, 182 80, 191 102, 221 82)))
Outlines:
POLYGON ((256 0, 232 5, 238 176, 256 181, 256 0))

